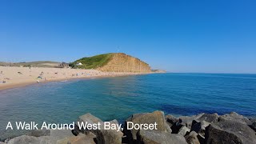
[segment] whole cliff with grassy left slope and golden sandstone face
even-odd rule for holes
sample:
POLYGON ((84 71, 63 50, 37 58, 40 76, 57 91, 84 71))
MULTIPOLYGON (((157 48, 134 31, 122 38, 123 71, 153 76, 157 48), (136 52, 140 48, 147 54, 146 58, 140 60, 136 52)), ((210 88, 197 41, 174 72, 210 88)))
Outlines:
POLYGON ((150 66, 146 62, 123 53, 99 54, 90 58, 81 58, 71 63, 71 66, 104 72, 151 72, 150 66))

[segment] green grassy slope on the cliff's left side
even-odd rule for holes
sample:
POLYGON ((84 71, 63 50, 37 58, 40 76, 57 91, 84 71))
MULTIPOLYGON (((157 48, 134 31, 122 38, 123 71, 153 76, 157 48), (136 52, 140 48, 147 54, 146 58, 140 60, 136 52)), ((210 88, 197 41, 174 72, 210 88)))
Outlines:
POLYGON ((80 69, 97 69, 98 67, 106 65, 106 63, 110 61, 112 55, 112 53, 109 53, 99 54, 89 58, 81 58, 70 63, 70 66, 80 69), (78 62, 81 62, 82 66, 76 66, 78 62))

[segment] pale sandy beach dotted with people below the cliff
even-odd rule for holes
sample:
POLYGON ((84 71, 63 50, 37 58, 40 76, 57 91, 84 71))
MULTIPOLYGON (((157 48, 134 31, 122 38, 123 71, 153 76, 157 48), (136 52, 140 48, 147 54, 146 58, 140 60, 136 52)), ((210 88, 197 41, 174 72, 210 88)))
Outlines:
POLYGON ((73 78, 98 78, 138 73, 102 72, 99 70, 62 69, 44 67, 0 66, 0 90, 26 86, 38 82, 62 81, 73 78))

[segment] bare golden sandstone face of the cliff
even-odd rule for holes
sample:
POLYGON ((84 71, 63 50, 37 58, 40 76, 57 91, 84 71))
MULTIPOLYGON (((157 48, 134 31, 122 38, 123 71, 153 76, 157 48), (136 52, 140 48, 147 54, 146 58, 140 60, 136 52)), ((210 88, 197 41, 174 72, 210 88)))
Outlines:
POLYGON ((98 70, 109 72, 133 72, 150 73, 150 66, 138 58, 122 53, 114 53, 106 65, 99 67, 98 70))

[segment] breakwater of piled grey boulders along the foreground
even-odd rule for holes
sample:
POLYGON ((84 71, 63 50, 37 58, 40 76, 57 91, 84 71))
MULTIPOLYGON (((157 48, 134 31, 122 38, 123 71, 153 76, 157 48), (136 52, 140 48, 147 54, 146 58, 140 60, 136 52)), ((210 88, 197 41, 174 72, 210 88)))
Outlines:
MULTIPOLYGON (((101 119, 92 114, 84 114, 78 118, 73 130, 36 130, 30 134, 12 138, 6 143, 256 143, 255 120, 234 112, 224 115, 198 114, 178 118, 173 115, 164 115, 162 111, 133 114, 126 119, 121 130, 106 130, 104 129, 104 123, 106 122, 102 122, 101 119), (99 124, 98 129, 81 129, 79 127, 81 122, 91 126, 99 124), (130 129, 130 123, 142 127, 135 129, 134 126, 134 129, 130 129), (149 130, 148 128, 150 126, 154 127, 154 124, 157 124, 157 129, 149 130)), ((121 126, 117 120, 107 123, 112 126, 121 126)))

